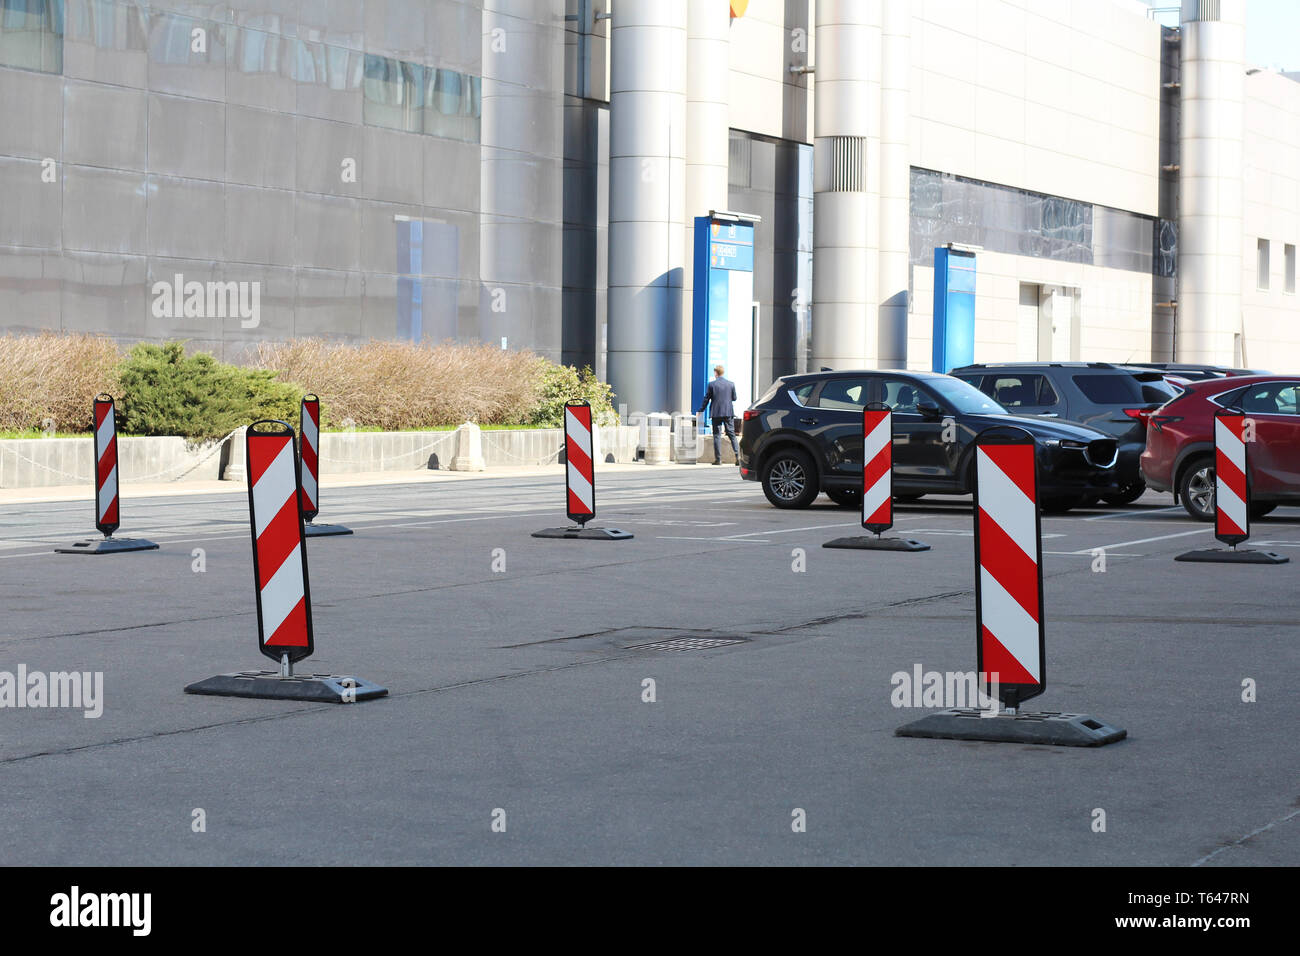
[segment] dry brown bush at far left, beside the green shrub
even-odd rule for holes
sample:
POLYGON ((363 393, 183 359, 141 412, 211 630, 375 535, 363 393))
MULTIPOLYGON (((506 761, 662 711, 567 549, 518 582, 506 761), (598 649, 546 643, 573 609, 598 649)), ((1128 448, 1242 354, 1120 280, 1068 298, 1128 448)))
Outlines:
POLYGON ((121 352, 105 336, 42 332, 0 336, 0 429, 88 432, 92 402, 113 393, 121 352))

